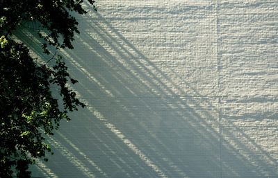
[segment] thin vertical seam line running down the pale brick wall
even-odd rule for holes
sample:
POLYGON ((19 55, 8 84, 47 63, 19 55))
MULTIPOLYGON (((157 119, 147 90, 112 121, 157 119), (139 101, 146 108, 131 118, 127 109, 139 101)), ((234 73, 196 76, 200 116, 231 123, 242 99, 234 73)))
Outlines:
POLYGON ((219 21, 218 21, 218 0, 215 4, 216 13, 216 58, 217 58, 217 73, 218 73, 218 122, 219 122, 219 160, 220 160, 220 178, 222 178, 222 110, 220 98, 220 57, 219 57, 219 21))

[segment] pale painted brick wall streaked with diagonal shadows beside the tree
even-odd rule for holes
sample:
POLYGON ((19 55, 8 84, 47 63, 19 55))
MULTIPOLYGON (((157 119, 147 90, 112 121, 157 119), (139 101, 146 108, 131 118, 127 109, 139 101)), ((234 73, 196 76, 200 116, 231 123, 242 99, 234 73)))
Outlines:
POLYGON ((277 0, 97 6, 62 51, 88 107, 34 177, 278 177, 277 0))

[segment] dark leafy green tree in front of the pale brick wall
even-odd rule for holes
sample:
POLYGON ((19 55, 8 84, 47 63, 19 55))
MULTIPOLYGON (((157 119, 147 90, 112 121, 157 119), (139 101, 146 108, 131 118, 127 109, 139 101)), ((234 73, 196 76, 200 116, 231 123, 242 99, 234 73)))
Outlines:
MULTIPOLYGON (((49 51, 51 46, 73 48, 79 30, 70 12, 85 14, 83 3, 0 0, 0 177, 31 177, 28 165, 51 152, 46 135, 54 134, 61 120, 70 120, 68 112, 85 107, 67 85, 77 81, 67 72, 64 59, 49 51), (13 39, 13 32, 28 21, 40 24, 42 51, 55 62, 39 62, 30 55, 30 46, 13 39), (51 86, 58 87, 62 104, 51 93, 51 86)), ((95 1, 88 3, 96 10, 95 1)))

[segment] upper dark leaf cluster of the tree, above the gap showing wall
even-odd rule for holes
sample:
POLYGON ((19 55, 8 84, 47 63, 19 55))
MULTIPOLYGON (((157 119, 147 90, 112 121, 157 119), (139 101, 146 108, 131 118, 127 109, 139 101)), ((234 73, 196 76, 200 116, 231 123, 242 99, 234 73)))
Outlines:
MULTIPOLYGON (((83 0, 8 0, 0 1, 0 33, 8 34, 15 30, 18 26, 26 21, 38 22, 42 29, 49 33, 43 37, 44 52, 47 51, 46 45, 56 46, 57 48, 73 48, 72 41, 74 33, 79 33, 77 25, 78 21, 70 15, 70 12, 78 12, 79 14, 87 13, 82 8, 83 0), (60 42, 59 39, 62 39, 60 42)), ((93 10, 95 1, 88 0, 93 10)))

